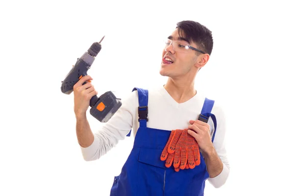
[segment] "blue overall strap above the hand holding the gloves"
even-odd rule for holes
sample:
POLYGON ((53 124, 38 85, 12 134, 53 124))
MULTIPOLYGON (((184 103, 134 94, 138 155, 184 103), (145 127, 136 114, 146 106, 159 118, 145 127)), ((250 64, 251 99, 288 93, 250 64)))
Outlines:
POLYGON ((205 98, 203 106, 202 106, 202 110, 201 110, 201 114, 199 115, 198 120, 207 123, 209 117, 211 117, 213 123, 214 123, 214 133, 212 136, 212 142, 214 141, 216 132, 217 132, 217 118, 214 114, 211 113, 213 105, 214 105, 214 100, 205 98))

